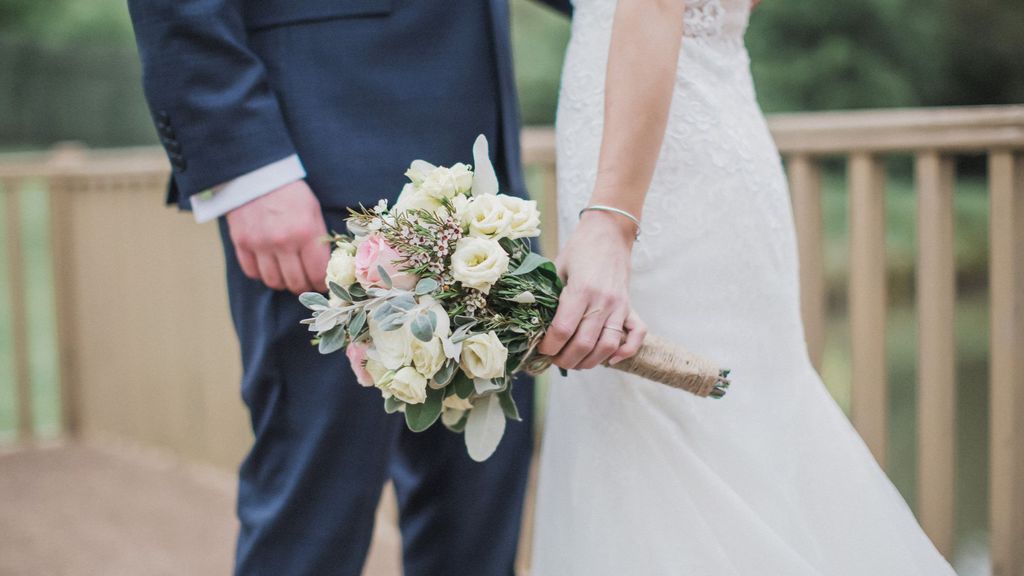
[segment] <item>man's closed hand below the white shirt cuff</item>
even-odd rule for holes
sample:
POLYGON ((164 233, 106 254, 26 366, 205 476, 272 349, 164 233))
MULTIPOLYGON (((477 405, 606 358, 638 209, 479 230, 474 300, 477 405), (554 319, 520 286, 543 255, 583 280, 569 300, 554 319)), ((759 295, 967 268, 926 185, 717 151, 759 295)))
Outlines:
POLYGON ((242 271, 274 290, 326 292, 327 225, 305 180, 286 184, 227 214, 242 271))

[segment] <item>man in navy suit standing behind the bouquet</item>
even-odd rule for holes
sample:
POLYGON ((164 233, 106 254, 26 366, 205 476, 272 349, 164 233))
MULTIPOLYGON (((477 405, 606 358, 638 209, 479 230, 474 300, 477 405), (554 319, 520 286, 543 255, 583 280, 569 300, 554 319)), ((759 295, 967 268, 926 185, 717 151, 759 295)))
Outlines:
MULTIPOLYGON (((568 11, 567 0, 549 0, 568 11)), ((242 396, 236 573, 358 575, 394 482, 408 576, 512 573, 525 421, 485 463, 440 426, 414 435, 319 356, 295 293, 324 290, 330 230, 393 197, 410 161, 465 161, 483 133, 524 194, 507 0, 129 0, 169 200, 220 222, 242 396)))

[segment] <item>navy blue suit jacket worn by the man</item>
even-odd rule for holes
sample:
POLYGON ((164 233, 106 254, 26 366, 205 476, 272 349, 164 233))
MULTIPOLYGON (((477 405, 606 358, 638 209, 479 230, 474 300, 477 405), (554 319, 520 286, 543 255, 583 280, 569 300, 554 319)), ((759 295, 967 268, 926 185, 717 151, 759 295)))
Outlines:
POLYGON ((522 194, 508 2, 479 1, 489 30, 441 0, 129 0, 168 201, 292 154, 326 208, 393 198, 479 132, 522 194))

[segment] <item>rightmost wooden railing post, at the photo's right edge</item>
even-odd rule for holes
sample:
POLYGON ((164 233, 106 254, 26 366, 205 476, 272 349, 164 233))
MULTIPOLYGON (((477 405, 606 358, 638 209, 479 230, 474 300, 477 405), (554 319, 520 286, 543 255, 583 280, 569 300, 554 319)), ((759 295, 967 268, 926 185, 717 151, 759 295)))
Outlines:
POLYGON ((1024 157, 993 151, 989 523, 992 574, 1024 574, 1024 157))

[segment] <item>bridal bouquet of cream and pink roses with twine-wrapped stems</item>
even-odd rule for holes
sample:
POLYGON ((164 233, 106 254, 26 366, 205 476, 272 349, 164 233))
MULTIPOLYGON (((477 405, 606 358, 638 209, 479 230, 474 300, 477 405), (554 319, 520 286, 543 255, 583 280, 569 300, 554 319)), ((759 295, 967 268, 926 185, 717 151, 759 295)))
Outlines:
MULTIPOLYGON (((319 352, 344 348, 388 413, 404 412, 414 431, 440 420, 482 461, 506 419, 519 419, 513 376, 550 365, 534 351, 562 282, 530 249, 541 234, 537 203, 498 193, 483 136, 473 160, 473 168, 417 160, 393 206, 351 211, 349 234, 332 238, 329 295, 300 301, 312 311, 303 323, 319 352)), ((614 368, 698 396, 728 387, 727 371, 651 336, 614 368)))

